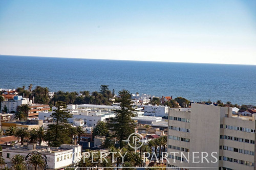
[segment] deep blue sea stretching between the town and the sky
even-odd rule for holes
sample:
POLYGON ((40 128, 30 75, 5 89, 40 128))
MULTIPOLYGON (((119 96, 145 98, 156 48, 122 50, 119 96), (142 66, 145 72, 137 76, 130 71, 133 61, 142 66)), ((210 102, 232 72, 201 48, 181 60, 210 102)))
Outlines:
POLYGON ((256 105, 256 66, 0 56, 0 88, 99 90, 256 105))

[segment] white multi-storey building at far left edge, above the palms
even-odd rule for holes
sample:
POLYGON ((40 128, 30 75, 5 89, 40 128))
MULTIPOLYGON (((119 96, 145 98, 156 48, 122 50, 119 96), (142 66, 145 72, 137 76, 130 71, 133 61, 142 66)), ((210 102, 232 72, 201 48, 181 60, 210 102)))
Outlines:
POLYGON ((4 107, 7 107, 7 111, 10 113, 11 111, 16 112, 17 107, 24 104, 31 104, 32 101, 29 98, 23 98, 21 95, 15 95, 13 100, 3 101, 1 103, 1 111, 4 107))

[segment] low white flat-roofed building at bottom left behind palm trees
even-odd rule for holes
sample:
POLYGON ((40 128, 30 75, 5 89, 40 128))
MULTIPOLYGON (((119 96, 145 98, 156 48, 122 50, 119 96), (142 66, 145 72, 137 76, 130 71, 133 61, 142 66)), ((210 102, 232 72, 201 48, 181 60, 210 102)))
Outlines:
POLYGON ((35 144, 29 144, 28 147, 16 145, 13 148, 3 149, 3 158, 7 166, 11 166, 11 158, 14 155, 23 155, 24 157, 32 153, 39 153, 47 161, 47 169, 65 168, 76 163, 81 156, 81 145, 61 144, 59 148, 42 147, 35 144))

